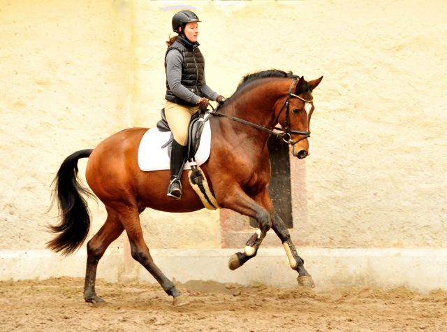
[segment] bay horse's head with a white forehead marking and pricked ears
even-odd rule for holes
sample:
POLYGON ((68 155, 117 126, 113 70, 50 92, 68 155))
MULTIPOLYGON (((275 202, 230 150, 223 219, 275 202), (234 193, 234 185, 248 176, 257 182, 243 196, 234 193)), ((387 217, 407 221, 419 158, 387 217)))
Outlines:
POLYGON ((309 137, 305 138, 300 133, 293 131, 310 132, 310 119, 314 112, 314 102, 312 91, 323 80, 323 76, 316 80, 307 82, 304 77, 300 78, 294 87, 291 87, 291 94, 288 96, 288 109, 281 112, 279 124, 285 131, 291 131, 290 140, 291 153, 298 159, 304 159, 312 152, 312 142, 309 137), (303 139, 304 138, 304 139, 303 139))

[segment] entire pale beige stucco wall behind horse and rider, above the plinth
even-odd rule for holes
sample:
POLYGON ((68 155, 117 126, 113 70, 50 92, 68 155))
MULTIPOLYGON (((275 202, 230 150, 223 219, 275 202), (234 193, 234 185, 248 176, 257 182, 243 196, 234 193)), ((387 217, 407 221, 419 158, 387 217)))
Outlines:
MULTIPOLYGON (((43 247, 49 185, 68 154, 154 126, 175 13, 160 8, 178 3, 203 20, 207 82, 220 94, 266 68, 325 76, 306 243, 446 246, 444 1, 0 0, 0 250, 43 247)), ((103 205, 90 206, 98 229, 103 205)), ((220 247, 218 212, 141 219, 149 247, 220 247)))

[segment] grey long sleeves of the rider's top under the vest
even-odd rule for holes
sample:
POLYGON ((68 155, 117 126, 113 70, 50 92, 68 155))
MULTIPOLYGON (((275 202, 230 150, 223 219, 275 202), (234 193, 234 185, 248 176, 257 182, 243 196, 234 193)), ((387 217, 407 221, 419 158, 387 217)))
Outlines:
MULTIPOLYGON (((168 76, 168 84, 170 90, 177 97, 188 101, 189 103, 198 103, 200 97, 189 91, 182 85, 182 54, 177 50, 170 50, 166 55, 166 75, 168 76)), ((203 94, 207 99, 216 100, 219 94, 214 92, 206 83, 205 73, 203 74, 203 94)))

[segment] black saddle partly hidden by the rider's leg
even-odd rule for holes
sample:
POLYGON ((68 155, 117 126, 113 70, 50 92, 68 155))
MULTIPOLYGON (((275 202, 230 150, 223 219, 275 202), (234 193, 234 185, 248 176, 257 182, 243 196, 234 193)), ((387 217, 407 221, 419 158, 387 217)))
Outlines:
MULTIPOLYGON (((205 112, 203 110, 199 110, 191 117, 191 121, 189 122, 189 130, 188 130, 188 152, 186 154, 186 161, 195 161, 194 156, 196 156, 196 152, 200 145, 200 137, 203 133, 203 120, 205 117, 205 112)), ((166 120, 165 109, 161 109, 161 120, 157 122, 156 127, 159 131, 170 131, 168 121, 166 120)), ((170 156, 171 145, 173 144, 174 136, 171 133, 168 142, 162 145, 162 148, 168 147, 168 155, 170 156)))

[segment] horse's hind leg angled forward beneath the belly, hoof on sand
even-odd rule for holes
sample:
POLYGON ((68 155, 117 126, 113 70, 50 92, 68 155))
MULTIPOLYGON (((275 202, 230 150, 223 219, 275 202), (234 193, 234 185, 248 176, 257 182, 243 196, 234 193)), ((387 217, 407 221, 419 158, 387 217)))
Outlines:
POLYGON ((177 287, 175 287, 175 284, 161 272, 158 266, 155 265, 154 260, 149 253, 149 248, 143 238, 140 217, 138 216, 138 208, 136 206, 127 205, 122 209, 120 219, 122 220, 124 229, 126 229, 127 236, 129 237, 133 259, 138 261, 138 263, 149 271, 155 280, 159 282, 161 287, 163 287, 164 291, 166 291, 166 294, 173 296, 173 305, 176 307, 189 305, 191 302, 188 298, 182 295, 177 287))

